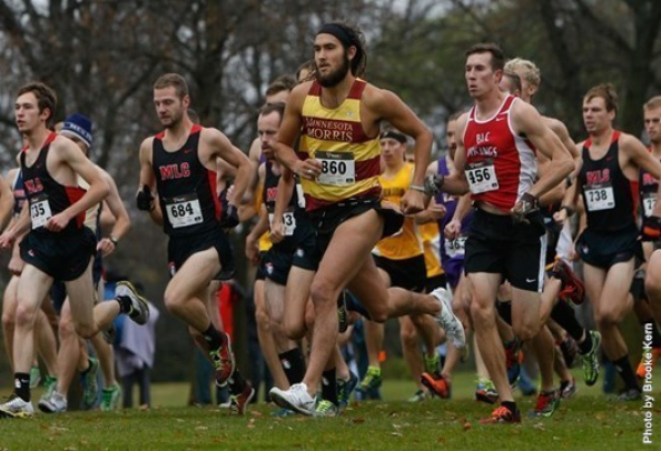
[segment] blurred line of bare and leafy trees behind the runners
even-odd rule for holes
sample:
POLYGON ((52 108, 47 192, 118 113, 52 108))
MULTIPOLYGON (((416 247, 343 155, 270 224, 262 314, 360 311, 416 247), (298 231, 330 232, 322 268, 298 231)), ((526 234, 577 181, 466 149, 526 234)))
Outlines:
MULTIPOLYGON (((134 206, 137 151, 158 131, 155 79, 185 76, 201 123, 247 151, 268 82, 310 59, 315 30, 338 19, 365 33, 366 78, 399 94, 434 130, 440 148, 445 118, 471 106, 464 52, 480 41, 537 63, 537 107, 562 119, 576 140, 591 86, 614 83, 618 126, 637 136, 642 104, 661 93, 658 0, 0 0, 0 162, 9 170, 21 147, 12 110, 24 82, 57 90, 58 120, 88 114, 91 158, 116 178, 134 220, 108 265, 140 280, 162 309, 166 240, 134 206)), ((243 235, 235 242, 245 269, 243 235)), ((246 271, 239 280, 250 284, 246 271)), ((177 362, 189 359, 186 331, 169 315, 158 330, 155 378, 185 377, 177 362)))

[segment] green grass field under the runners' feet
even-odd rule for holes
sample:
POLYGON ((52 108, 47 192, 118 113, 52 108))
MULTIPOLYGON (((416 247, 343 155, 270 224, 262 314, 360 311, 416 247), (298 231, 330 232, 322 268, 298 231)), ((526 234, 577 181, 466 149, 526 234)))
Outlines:
MULTIPOLYGON (((580 380, 580 374, 578 374, 580 380)), ((655 378, 661 388, 661 377, 655 378)), ((661 394, 654 390, 653 444, 642 444, 642 402, 618 403, 582 385, 551 419, 481 425, 491 407, 472 400, 472 375, 457 374, 454 399, 412 404, 413 383, 386 380, 384 402, 353 404, 336 419, 274 419, 255 404, 243 418, 218 408, 188 408, 186 384, 152 387, 155 408, 111 413, 37 414, 0 421, 0 450, 640 450, 661 449, 661 394), (658 439, 658 440, 655 440, 658 439)), ((37 393, 38 395, 39 393, 37 393)), ((534 399, 519 399, 522 413, 534 399)))

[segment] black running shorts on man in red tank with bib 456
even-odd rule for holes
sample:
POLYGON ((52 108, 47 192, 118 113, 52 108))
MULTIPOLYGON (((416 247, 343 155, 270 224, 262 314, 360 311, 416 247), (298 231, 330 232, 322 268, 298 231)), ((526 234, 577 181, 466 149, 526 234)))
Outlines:
POLYGON ((497 273, 512 287, 541 292, 546 234, 541 214, 529 219, 514 222, 511 216, 477 209, 466 240, 466 274, 497 273))

